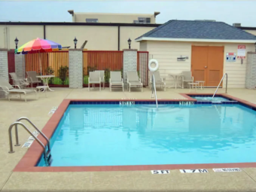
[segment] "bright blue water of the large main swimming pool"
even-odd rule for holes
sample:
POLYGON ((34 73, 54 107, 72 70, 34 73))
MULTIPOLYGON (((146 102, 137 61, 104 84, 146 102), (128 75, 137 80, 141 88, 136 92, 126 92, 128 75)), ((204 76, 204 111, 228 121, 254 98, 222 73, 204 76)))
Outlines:
MULTIPOLYGON (((256 162, 256 111, 242 105, 69 105, 51 166, 256 162)), ((44 166, 41 160, 38 166, 44 166)))

